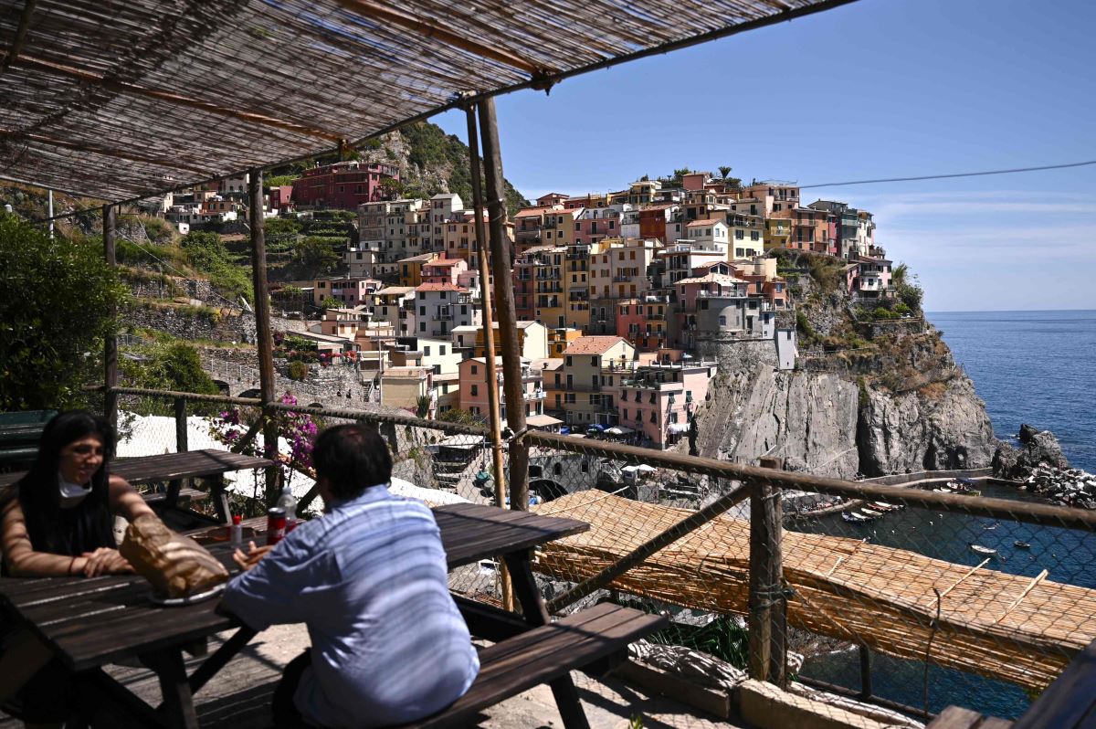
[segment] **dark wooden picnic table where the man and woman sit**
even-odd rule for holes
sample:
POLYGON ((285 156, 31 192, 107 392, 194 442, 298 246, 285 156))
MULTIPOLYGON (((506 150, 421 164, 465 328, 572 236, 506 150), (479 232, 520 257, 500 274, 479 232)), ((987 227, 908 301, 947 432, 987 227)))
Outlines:
MULTIPOLYGON (((529 628, 547 623, 530 568, 532 548, 590 528, 576 520, 478 504, 438 506, 434 515, 450 569, 488 557, 505 557, 529 628)), ((210 551, 230 571, 238 571, 228 545, 215 545, 210 551)), ((150 596, 149 583, 137 576, 0 579, 0 601, 66 667, 79 672, 82 684, 95 687, 98 700, 127 707, 145 725, 197 727, 194 692, 231 660, 254 631, 236 617, 218 613, 216 600, 184 607, 160 607, 150 602, 150 596), (187 676, 183 649, 232 628, 237 628, 236 634, 187 676), (102 669, 132 657, 139 657, 159 676, 161 707, 146 704, 102 669)), ((510 619, 511 624, 503 629, 516 631, 513 614, 505 615, 510 618, 500 619, 510 619)), ((479 614, 476 619, 490 623, 491 615, 479 614)), ((570 677, 555 679, 550 685, 564 719, 572 717, 568 726, 584 726, 585 718, 570 677), (573 719, 575 711, 581 720, 573 719)))

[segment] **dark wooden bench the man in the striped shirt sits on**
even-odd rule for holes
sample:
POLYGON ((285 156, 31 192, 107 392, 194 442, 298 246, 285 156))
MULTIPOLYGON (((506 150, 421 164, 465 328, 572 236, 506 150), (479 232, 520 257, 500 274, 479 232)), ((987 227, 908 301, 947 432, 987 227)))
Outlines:
MULTIPOLYGON (((520 622, 514 623, 515 628, 520 622)), ((524 633, 480 651, 480 672, 467 694, 438 714, 402 726, 422 729, 468 726, 482 709, 621 653, 628 643, 667 624, 662 615, 602 603, 532 630, 525 626, 524 633)), ((564 726, 585 726, 585 719, 572 724, 564 717, 564 726)))

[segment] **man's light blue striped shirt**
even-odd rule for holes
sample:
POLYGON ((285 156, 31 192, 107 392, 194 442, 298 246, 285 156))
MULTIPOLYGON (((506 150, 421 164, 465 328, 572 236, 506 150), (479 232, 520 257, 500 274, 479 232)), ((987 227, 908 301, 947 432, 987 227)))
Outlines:
POLYGON ((384 486, 300 524, 221 604, 256 630, 307 624, 312 664, 294 700, 319 726, 413 721, 479 673, 433 513, 384 486))

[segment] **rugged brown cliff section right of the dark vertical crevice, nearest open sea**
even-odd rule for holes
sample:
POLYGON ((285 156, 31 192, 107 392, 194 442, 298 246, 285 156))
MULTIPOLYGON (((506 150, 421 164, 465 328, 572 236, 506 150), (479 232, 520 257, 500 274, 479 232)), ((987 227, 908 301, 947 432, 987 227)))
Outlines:
POLYGON ((997 441, 970 379, 959 376, 941 385, 943 391, 940 387, 901 394, 867 390, 857 438, 863 474, 990 464, 997 441))

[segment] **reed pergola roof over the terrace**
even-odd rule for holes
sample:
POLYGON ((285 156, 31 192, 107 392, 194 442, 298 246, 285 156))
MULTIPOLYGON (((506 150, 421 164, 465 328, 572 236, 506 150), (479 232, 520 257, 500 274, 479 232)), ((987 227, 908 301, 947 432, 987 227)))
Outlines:
POLYGON ((0 179, 124 202, 852 0, 0 0, 0 179))

